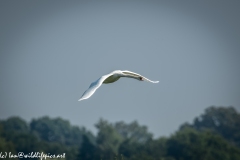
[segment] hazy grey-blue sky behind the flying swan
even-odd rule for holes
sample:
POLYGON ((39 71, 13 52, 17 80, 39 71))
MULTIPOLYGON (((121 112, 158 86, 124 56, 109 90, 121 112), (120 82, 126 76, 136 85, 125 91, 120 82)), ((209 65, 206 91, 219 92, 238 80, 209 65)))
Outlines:
POLYGON ((240 1, 0 1, 0 118, 62 117, 94 133, 137 120, 168 136, 211 106, 240 110, 240 1), (134 79, 83 92, 100 76, 134 79))

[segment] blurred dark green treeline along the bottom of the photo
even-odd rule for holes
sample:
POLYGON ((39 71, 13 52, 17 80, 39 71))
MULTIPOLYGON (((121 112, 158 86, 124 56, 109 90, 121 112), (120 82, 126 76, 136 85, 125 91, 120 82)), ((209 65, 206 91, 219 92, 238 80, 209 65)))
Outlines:
POLYGON ((240 160, 240 113, 233 107, 209 107, 192 124, 155 139, 137 121, 100 119, 95 126, 97 135, 62 118, 11 117, 0 121, 0 152, 66 153, 67 160, 240 160))

